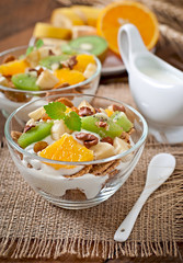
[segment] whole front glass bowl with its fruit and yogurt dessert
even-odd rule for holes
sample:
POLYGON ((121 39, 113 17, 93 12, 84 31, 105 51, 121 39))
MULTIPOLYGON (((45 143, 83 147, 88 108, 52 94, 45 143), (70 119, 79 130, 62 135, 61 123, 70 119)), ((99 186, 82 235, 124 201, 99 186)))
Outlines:
POLYGON ((47 201, 88 208, 112 196, 135 169, 147 137, 133 107, 94 95, 59 94, 13 112, 5 123, 12 159, 47 201), (90 103, 89 103, 90 102, 90 103), (26 123, 19 118, 30 112, 26 123))

